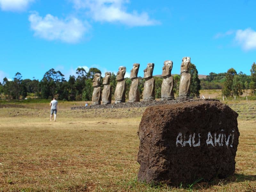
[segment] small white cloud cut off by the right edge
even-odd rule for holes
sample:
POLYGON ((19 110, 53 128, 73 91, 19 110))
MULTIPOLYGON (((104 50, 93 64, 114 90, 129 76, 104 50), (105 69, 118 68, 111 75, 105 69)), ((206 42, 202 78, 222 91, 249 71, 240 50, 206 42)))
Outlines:
POLYGON ((235 40, 244 50, 256 49, 256 31, 251 28, 237 30, 235 40))

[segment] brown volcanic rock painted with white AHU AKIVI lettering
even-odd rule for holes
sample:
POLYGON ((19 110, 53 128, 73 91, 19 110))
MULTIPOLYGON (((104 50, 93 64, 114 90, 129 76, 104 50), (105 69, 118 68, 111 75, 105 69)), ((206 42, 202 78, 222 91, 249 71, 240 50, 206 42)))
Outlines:
POLYGON ((148 107, 139 126, 138 180, 179 185, 234 174, 237 116, 218 101, 148 107))

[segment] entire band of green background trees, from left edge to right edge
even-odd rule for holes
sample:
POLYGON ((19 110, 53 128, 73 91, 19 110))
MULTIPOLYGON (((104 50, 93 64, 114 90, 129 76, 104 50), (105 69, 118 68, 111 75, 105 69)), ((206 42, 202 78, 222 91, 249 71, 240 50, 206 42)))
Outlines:
MULTIPOLYGON (((213 73, 201 81, 198 78, 198 71, 194 64, 190 65, 189 73, 191 74, 190 95, 198 96, 201 89, 222 89, 222 94, 225 96, 242 95, 243 92, 251 90, 251 94, 256 94, 256 64, 252 64, 251 76, 244 74, 243 72, 236 73, 235 69, 231 68, 227 73, 213 73)), ((77 68, 75 76, 69 76, 68 82, 64 79, 64 75, 60 71, 55 71, 53 68, 44 74, 43 79, 39 82, 36 79, 22 79, 22 76, 17 72, 13 78, 13 81, 8 81, 5 77, 3 84, 0 83, 0 93, 5 96, 6 99, 25 99, 27 95, 30 97, 39 97, 49 99, 57 97, 59 100, 91 100, 92 99, 92 79, 95 73, 101 73, 97 68, 90 68, 88 73, 84 68, 77 68)), ((33 77, 34 78, 34 77, 33 77)), ((145 79, 139 78, 139 93, 142 99, 143 87, 145 79)), ((162 78, 154 77, 155 79, 155 97, 161 98, 161 85, 162 78)), ((174 93, 176 96, 179 94, 180 75, 174 75, 174 93)), ((102 77, 100 80, 101 87, 102 77)), ((129 90, 131 80, 125 78, 126 81, 126 99, 129 99, 129 90)), ((112 100, 114 100, 114 92, 116 89, 116 75, 111 74, 110 85, 112 100)))

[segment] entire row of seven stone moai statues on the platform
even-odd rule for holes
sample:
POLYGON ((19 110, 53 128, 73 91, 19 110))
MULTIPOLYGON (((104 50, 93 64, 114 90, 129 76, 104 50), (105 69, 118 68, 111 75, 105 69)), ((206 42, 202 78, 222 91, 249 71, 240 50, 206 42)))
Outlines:
MULTIPOLYGON (((173 92, 173 77, 171 76, 173 62, 171 60, 164 61, 164 67, 162 70, 163 82, 161 86, 161 100, 172 100, 174 99, 173 92)), ((190 57, 183 57, 180 67, 180 86, 179 86, 179 97, 189 98, 189 88, 191 75, 188 73, 190 65, 190 57)), ((139 63, 134 63, 131 70, 130 79, 132 80, 130 91, 129 91, 129 101, 128 102, 138 102, 140 101, 139 94, 139 78, 138 71, 140 68, 139 63)), ((143 100, 142 101, 154 101, 155 100, 155 79, 153 78, 154 63, 148 63, 147 68, 144 69, 144 89, 143 89, 143 100)), ((126 67, 119 67, 116 75, 116 89, 115 89, 115 103, 125 102, 125 90, 126 82, 124 80, 124 75, 126 72, 126 67)), ((111 73, 106 72, 103 78, 103 90, 101 94, 100 88, 100 73, 95 73, 92 80, 93 93, 92 93, 92 105, 100 105, 101 99, 102 104, 111 103, 111 85, 110 77, 111 73)))

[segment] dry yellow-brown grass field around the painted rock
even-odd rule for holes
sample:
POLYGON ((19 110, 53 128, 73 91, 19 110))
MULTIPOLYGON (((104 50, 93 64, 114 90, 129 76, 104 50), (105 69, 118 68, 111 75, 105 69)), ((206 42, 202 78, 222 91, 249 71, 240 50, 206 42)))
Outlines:
POLYGON ((256 191, 256 102, 229 102, 240 131, 235 175, 191 186, 137 182, 145 108, 70 110, 60 102, 0 108, 0 191, 256 191), (94 116, 98 118, 94 118, 94 116))

